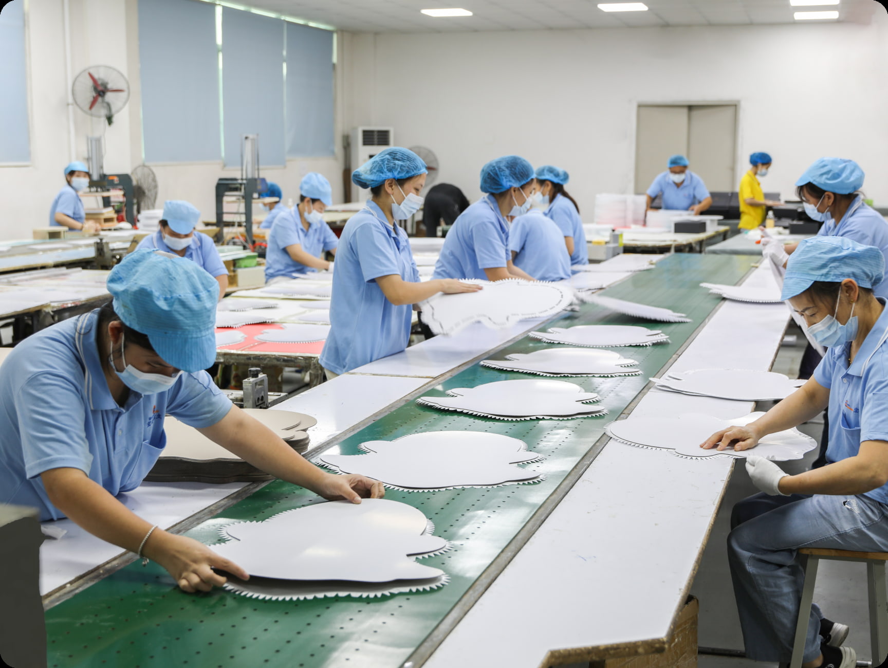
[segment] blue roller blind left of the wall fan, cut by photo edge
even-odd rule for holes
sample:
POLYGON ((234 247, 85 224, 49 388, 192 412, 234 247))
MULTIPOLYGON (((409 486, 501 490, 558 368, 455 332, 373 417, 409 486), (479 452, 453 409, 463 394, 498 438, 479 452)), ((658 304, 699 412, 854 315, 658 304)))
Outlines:
POLYGON ((12 0, 0 12, 0 163, 31 162, 27 73, 25 2, 12 0))

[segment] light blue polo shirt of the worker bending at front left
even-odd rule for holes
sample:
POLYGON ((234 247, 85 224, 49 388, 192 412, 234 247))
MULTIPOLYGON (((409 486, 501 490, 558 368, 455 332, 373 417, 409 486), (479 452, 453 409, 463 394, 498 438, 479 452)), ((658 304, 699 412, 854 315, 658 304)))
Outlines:
POLYGON ((215 425, 232 402, 206 371, 183 373, 160 394, 130 392, 121 407, 108 390, 96 333, 99 311, 26 338, 0 368, 0 503, 30 505, 41 520, 64 515, 40 473, 79 468, 112 495, 139 487, 166 445, 163 416, 215 425))

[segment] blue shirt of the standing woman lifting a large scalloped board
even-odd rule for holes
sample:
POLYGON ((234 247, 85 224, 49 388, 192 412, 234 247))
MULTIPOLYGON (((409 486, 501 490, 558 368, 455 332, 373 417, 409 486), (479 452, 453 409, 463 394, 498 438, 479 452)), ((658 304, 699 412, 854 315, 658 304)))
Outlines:
POLYGON ((392 227, 369 200, 365 209, 345 223, 335 267, 331 328, 321 366, 342 374, 404 350, 413 307, 392 304, 376 279, 398 274, 404 281, 419 282, 407 233, 392 227))

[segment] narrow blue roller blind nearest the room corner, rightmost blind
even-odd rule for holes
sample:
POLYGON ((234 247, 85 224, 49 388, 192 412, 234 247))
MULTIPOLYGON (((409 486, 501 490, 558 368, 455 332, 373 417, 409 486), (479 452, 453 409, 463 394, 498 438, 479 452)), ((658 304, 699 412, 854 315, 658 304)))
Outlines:
POLYGON ((334 155, 333 33, 287 24, 287 156, 334 155))

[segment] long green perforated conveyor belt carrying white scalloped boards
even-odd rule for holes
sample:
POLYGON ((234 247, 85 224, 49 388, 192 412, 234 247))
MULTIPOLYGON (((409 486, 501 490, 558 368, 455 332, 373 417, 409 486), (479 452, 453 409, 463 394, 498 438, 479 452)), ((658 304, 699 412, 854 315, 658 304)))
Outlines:
MULTIPOLYGON (((605 292, 615 298, 669 307, 693 318, 686 323, 647 323, 651 329, 670 335, 667 345, 621 349, 640 362, 641 376, 570 379, 602 396, 602 404, 610 411, 605 418, 505 422, 408 402, 336 446, 344 454, 358 454, 362 441, 391 440, 421 430, 461 429, 514 436, 546 457, 529 465, 547 475, 537 484, 432 493, 387 490, 387 498, 422 510, 434 521, 436 535, 454 544, 450 552, 422 560, 450 575, 447 586, 383 599, 261 601, 220 590, 200 595, 180 592, 159 566, 151 563, 143 568, 136 562, 47 611, 49 665, 400 666, 599 439, 604 425, 626 409, 646 386, 647 378, 662 369, 718 306, 720 299, 698 284, 734 284, 755 260, 748 256, 672 255, 655 269, 632 274, 605 292)), ((553 322, 558 326, 592 323, 639 322, 591 305, 553 322)), ((496 356, 502 359, 505 353, 546 346, 551 344, 522 338, 496 356)), ((475 364, 425 394, 444 394, 450 387, 508 378, 538 377, 475 364)), ((304 489, 275 481, 188 535, 215 543, 218 528, 230 521, 263 520, 317 500, 304 489)), ((545 564, 540 568, 545 569, 545 564)))

